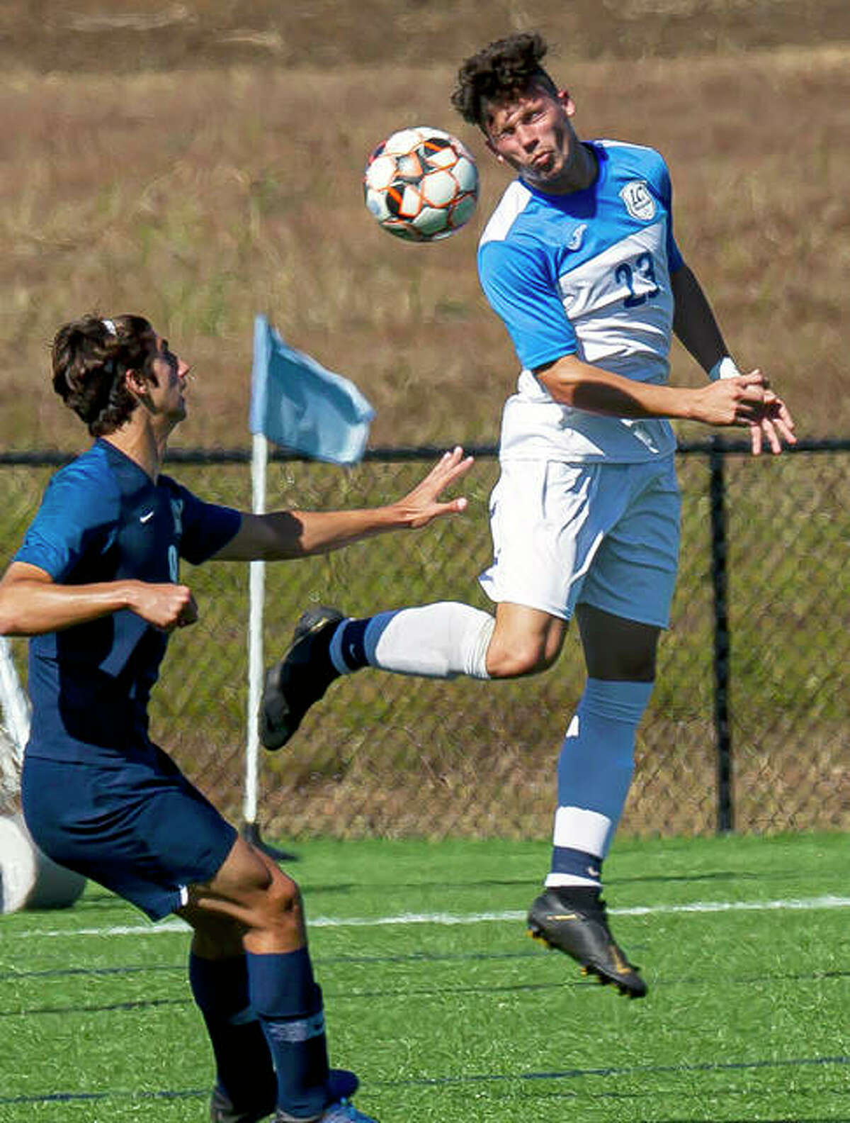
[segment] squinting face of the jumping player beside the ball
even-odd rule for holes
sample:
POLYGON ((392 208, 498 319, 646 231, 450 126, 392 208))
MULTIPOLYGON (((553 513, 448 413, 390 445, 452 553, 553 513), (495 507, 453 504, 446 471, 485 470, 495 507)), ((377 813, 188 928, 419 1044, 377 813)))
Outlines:
POLYGON ((566 91, 533 85, 526 93, 493 102, 487 119, 487 144, 502 163, 542 191, 574 190, 572 175, 579 138, 570 118, 575 112, 566 91))

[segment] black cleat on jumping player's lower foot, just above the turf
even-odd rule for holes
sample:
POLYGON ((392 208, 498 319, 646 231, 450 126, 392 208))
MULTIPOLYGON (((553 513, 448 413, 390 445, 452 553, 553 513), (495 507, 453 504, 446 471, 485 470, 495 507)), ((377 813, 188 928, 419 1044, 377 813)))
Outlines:
POLYGON ((582 965, 585 975, 613 983, 620 994, 643 998, 646 983, 630 964, 608 928, 606 904, 592 886, 552 886, 528 911, 528 934, 564 951, 582 965))

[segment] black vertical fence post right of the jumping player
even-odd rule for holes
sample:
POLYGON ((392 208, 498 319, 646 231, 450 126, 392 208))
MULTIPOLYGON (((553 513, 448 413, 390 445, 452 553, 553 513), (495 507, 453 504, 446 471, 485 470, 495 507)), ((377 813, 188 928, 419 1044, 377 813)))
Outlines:
POLYGON ((711 582, 714 590, 714 736, 717 740, 719 834, 734 828, 732 805, 732 734, 729 727, 730 634, 726 517, 726 449, 711 440, 711 582))

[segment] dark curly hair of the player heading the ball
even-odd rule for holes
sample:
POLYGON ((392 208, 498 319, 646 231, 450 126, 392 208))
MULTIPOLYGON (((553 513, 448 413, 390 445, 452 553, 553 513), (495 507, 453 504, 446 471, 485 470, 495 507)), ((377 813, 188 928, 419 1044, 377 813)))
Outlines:
POLYGON ((548 46, 538 31, 521 31, 470 55, 458 71, 452 104, 465 121, 487 131, 487 104, 525 93, 532 84, 557 86, 541 65, 548 46))

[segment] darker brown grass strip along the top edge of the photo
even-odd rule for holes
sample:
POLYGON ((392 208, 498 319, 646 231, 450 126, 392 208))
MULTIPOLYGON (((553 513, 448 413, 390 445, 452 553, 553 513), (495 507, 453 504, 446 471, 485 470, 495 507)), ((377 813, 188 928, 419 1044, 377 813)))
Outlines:
POLYGON ((846 40, 846 0, 3 0, 0 61, 40 72, 453 62, 536 27, 563 57, 846 40))

